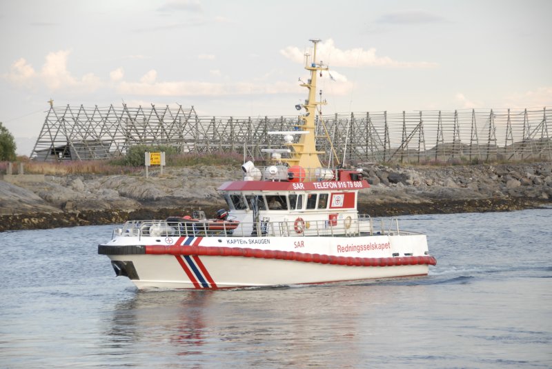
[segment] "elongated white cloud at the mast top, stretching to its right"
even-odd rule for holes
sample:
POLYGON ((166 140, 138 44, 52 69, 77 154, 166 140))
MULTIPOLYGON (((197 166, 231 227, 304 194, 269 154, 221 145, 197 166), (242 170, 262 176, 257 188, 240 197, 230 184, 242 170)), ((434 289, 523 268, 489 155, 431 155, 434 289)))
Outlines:
MULTIPOLYGON (((280 50, 280 54, 298 63, 304 62, 304 52, 296 46, 288 46, 284 50, 280 50)), ((318 61, 322 60, 324 63, 328 63, 330 66, 353 68, 362 66, 434 68, 438 66, 437 63, 428 61, 396 61, 390 57, 380 57, 376 54, 375 48, 368 50, 364 50, 363 48, 341 50, 335 47, 333 39, 328 39, 318 44, 317 59, 318 61)))

